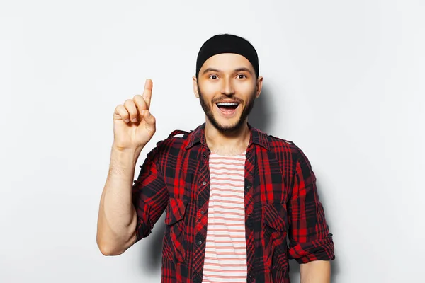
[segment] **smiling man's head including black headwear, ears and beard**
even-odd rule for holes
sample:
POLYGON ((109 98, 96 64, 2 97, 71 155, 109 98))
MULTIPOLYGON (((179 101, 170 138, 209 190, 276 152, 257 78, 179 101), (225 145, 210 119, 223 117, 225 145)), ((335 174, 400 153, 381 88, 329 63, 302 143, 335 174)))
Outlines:
POLYGON ((215 35, 200 48, 193 91, 220 132, 234 132, 244 125, 262 82, 256 50, 244 38, 215 35))

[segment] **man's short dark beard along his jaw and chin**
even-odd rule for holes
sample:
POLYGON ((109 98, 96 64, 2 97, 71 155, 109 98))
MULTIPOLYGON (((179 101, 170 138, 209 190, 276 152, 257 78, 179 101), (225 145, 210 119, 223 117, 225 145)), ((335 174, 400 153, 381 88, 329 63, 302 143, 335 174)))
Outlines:
MULTIPOLYGON (((212 126, 214 126, 215 129, 217 129, 218 131, 222 133, 230 133, 230 132, 237 131, 244 125, 246 118, 248 117, 249 113, 251 113, 252 108, 254 108, 256 89, 251 93, 251 96, 249 96, 248 103, 246 103, 246 105, 242 109, 242 114, 239 117, 239 120, 237 120, 237 122, 234 123, 234 125, 228 125, 228 126, 220 125, 217 119, 215 119, 214 113, 212 112, 213 106, 210 106, 208 102, 205 100, 203 94, 200 91, 199 85, 198 85, 198 94, 199 94, 200 105, 202 106, 202 109, 205 112, 205 115, 208 117, 208 120, 210 120, 212 126)), ((226 96, 226 97, 233 98, 232 96, 230 97, 226 96)))

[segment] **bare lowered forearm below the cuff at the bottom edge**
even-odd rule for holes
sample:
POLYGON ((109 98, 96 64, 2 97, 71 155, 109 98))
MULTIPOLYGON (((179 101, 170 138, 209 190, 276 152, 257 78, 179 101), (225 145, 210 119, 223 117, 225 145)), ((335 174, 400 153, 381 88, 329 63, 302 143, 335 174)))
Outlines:
POLYGON ((331 262, 329 260, 313 260, 300 264, 301 283, 330 283, 331 262))

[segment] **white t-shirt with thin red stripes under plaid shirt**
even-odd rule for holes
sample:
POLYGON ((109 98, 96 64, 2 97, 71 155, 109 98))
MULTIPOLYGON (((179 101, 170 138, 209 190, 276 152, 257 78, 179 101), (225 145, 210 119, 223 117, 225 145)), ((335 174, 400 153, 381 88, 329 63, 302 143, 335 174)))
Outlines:
POLYGON ((210 154, 210 201, 203 283, 246 282, 245 153, 210 154))

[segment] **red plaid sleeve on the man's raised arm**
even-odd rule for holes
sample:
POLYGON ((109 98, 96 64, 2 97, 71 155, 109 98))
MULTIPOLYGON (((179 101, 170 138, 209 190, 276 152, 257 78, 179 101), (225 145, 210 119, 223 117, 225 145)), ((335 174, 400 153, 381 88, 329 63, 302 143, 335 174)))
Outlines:
POLYGON ((160 142, 147 154, 140 173, 132 185, 132 203, 137 212, 137 241, 147 237, 161 217, 169 200, 160 167, 160 142))

